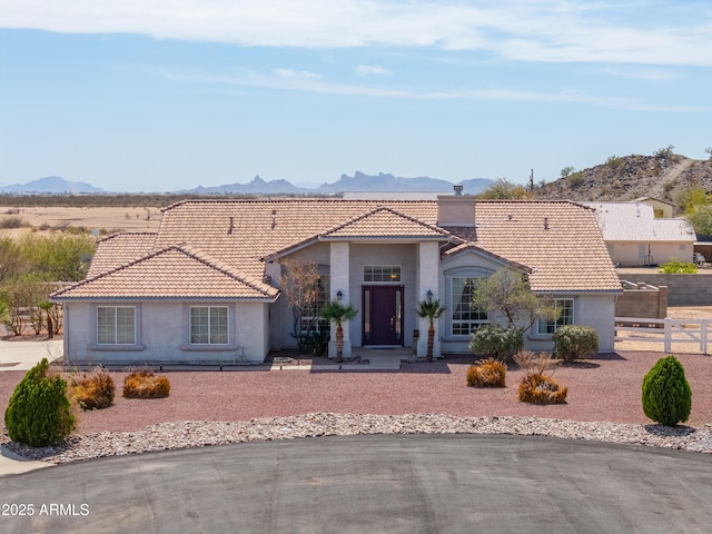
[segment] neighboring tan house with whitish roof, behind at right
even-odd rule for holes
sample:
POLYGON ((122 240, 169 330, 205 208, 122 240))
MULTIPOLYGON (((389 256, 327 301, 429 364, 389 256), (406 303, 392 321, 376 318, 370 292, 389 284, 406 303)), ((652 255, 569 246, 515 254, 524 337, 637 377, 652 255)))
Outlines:
POLYGON ((655 218, 642 202, 584 202, 595 210, 611 259, 620 267, 693 260, 695 234, 682 218, 655 218))

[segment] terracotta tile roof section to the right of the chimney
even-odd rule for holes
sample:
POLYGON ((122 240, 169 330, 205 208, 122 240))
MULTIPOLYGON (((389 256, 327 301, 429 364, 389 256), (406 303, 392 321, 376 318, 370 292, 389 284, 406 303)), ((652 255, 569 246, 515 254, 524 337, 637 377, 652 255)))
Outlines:
POLYGON ((524 264, 536 291, 611 291, 621 284, 592 209, 568 201, 481 201, 477 245, 524 264))

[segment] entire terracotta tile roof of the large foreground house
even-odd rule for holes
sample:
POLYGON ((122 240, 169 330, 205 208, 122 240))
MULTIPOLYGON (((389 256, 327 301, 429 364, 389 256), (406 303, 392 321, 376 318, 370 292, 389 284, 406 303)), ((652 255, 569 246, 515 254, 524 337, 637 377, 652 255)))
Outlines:
MULTIPOLYGON (((80 283, 73 286, 71 296, 90 296, 95 289, 88 286, 95 285, 97 294, 116 296, 144 294, 150 289, 146 285, 156 286, 150 289, 155 296, 194 295, 192 285, 202 287, 199 278, 209 273, 207 279, 219 278, 210 286, 214 287, 210 295, 271 297, 274 288, 261 284, 265 268, 261 258, 318 238, 394 237, 443 238, 461 247, 451 249, 447 253, 451 255, 476 248, 521 264, 532 270, 532 288, 538 291, 621 290, 592 209, 568 201, 475 205, 474 199, 473 209, 475 228, 441 228, 437 202, 432 200, 187 200, 164 210, 152 243, 155 254, 130 268, 117 268, 129 256, 123 239, 130 239, 118 236, 107 239, 107 248, 113 241, 118 250, 98 254, 99 265, 96 269, 92 266, 92 273, 113 265, 111 276, 106 280, 100 277, 87 280, 87 287, 80 283), (236 289, 235 280, 250 280, 245 286, 249 289, 236 289), (220 284, 226 284, 227 293, 216 289, 220 284)), ((141 247, 148 243, 146 237, 141 247)), ((60 293, 60 297, 70 296, 60 293)))

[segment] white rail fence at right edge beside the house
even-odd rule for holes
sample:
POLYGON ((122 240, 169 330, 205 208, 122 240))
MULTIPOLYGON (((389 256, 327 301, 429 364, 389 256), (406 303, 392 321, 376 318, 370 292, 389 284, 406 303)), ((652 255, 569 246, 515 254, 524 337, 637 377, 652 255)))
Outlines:
MULTIPOLYGON (((662 343, 665 353, 672 352, 673 344, 695 344, 702 354, 709 354, 710 319, 650 319, 641 317, 616 317, 615 340, 635 343, 662 343)), ((680 350, 684 350, 680 347, 680 350)))

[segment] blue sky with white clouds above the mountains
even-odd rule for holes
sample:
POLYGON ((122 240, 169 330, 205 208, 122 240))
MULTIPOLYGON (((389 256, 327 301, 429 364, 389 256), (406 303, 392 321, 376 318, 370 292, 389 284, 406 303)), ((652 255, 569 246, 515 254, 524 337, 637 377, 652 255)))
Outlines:
POLYGON ((0 184, 552 181, 712 146, 712 2, 0 0, 0 184))

